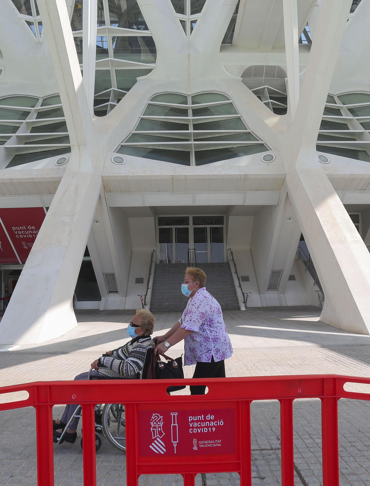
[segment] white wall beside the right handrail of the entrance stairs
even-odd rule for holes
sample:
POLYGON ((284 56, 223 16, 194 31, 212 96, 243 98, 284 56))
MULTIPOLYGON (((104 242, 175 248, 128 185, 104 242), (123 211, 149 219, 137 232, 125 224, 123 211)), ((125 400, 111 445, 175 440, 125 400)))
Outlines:
MULTIPOLYGON (((261 299, 258 292, 257 281, 254 274, 253 261, 251 255, 251 236, 253 227, 253 216, 229 216, 227 231, 227 248, 231 248, 234 253, 236 268, 240 275, 248 275, 249 282, 241 282, 244 292, 252 292, 248 298, 248 307, 260 307, 261 299)), ((230 252, 228 251, 230 260, 230 252)), ((230 262, 232 272, 235 271, 232 261, 230 262)), ((234 275, 234 274, 233 274, 234 275)), ((235 286, 238 282, 235 278, 235 286)), ((237 289, 238 290, 238 289, 237 289)), ((238 293, 238 292, 237 292, 238 293)), ((239 293, 238 293, 239 294, 239 293)), ((241 299, 241 294, 238 295, 241 299)))

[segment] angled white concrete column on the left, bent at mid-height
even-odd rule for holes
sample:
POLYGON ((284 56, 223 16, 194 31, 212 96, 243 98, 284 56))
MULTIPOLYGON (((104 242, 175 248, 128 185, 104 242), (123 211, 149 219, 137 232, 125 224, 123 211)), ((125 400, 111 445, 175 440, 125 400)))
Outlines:
POLYGON ((77 325, 72 296, 102 184, 105 147, 92 123, 66 2, 37 3, 66 117, 71 156, 1 320, 1 344, 39 343, 77 325))

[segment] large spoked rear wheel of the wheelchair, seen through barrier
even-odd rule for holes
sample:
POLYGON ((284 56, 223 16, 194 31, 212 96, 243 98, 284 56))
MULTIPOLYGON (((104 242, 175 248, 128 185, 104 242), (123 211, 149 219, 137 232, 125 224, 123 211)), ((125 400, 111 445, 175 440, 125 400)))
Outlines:
POLYGON ((118 451, 126 451, 125 407, 121 403, 106 403, 103 408, 104 436, 118 451))

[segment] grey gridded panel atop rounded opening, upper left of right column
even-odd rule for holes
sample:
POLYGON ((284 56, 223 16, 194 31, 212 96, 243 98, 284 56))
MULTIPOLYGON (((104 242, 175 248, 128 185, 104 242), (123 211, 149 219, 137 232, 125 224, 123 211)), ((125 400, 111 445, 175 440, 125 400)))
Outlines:
POLYGON ((280 66, 249 66, 243 71, 241 77, 249 89, 270 86, 286 92, 286 72, 280 66))

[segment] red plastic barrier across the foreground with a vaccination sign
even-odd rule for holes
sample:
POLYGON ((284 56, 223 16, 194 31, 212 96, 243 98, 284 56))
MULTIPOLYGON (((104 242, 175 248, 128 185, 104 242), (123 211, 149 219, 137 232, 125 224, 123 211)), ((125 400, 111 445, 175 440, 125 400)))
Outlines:
POLYGON ((181 474, 194 486, 197 473, 238 472, 252 485, 251 415, 253 400, 278 399, 281 417, 283 486, 294 485, 293 400, 319 398, 322 425, 323 486, 339 485, 338 415, 340 398, 369 400, 343 389, 346 382, 370 379, 337 375, 277 376, 197 380, 35 382, 0 388, 29 398, 1 403, 0 410, 36 409, 38 486, 54 485, 52 406, 79 403, 83 409, 84 485, 96 486, 94 406, 123 403, 126 413, 127 485, 140 474, 181 474), (205 384, 205 396, 169 396, 171 384, 205 384), (212 424, 211 424, 212 423, 212 424))

